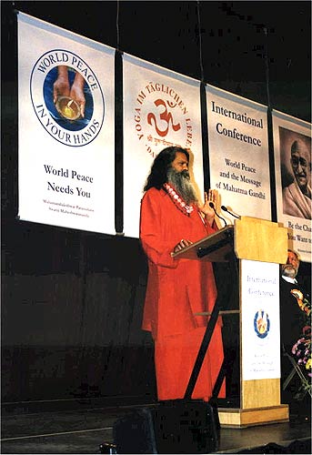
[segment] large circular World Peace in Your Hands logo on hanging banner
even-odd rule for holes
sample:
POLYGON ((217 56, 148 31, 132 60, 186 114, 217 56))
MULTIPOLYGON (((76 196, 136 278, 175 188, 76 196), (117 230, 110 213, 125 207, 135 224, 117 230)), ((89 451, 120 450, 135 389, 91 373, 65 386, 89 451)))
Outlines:
POLYGON ((65 146, 86 146, 103 126, 101 86, 91 67, 70 51, 51 50, 36 61, 30 96, 45 131, 65 146))

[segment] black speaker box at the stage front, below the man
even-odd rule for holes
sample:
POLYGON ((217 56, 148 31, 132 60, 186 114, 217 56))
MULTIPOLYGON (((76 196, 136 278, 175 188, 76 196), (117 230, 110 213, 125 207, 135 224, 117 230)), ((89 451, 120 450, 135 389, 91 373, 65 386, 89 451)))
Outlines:
POLYGON ((216 405, 193 399, 132 411, 113 428, 117 453, 211 453, 219 432, 216 405))

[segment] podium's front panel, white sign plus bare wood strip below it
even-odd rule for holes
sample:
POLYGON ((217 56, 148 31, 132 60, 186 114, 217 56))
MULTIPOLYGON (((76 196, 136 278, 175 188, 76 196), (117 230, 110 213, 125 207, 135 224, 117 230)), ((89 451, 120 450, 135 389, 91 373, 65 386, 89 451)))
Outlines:
POLYGON ((240 261, 242 407, 279 404, 279 266, 240 261))

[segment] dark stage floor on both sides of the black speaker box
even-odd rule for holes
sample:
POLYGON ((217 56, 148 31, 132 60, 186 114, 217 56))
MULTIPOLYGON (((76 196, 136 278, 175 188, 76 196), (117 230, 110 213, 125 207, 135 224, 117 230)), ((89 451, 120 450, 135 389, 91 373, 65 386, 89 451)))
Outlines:
MULTIPOLYGON (((62 402, 58 402, 49 411, 43 410, 40 403, 3 406, 1 453, 100 453, 101 443, 113 441, 114 422, 139 407, 99 407, 99 403, 87 399, 71 404, 63 403, 60 410, 62 402)), ((222 428, 215 453, 283 453, 260 451, 260 447, 270 443, 287 447, 293 441, 299 447, 294 453, 311 453, 310 416, 291 414, 287 423, 222 428)))

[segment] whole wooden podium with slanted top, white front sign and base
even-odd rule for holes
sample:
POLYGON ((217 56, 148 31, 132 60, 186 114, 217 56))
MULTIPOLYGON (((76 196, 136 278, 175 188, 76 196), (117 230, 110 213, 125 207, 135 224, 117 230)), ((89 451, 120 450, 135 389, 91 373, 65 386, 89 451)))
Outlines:
MULTIPOLYGON (((224 319, 233 313, 239 317, 239 403, 237 407, 218 406, 221 426, 244 428, 288 421, 288 405, 280 403, 280 370, 277 373, 280 365, 278 264, 287 261, 287 228, 259 218, 241 217, 235 220, 234 226, 220 229, 173 257, 208 260, 214 265, 235 260, 238 265, 237 277, 228 278, 238 280, 238 308, 224 309, 231 306, 229 302, 218 304, 219 314, 228 315, 224 319), (275 357, 270 359, 273 351, 275 357), (256 366, 255 359, 259 362, 256 366)), ((216 277, 216 286, 218 297, 226 294, 224 278, 216 277)))

